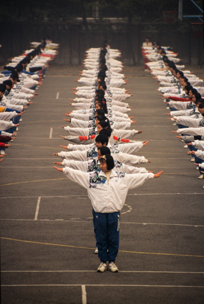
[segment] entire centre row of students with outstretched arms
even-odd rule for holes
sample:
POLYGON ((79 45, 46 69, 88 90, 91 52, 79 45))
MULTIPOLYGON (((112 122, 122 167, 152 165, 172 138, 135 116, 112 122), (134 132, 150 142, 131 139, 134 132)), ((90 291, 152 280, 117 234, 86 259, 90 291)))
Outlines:
POLYGON ((74 88, 78 97, 71 100, 75 102, 71 106, 77 110, 63 113, 69 117, 64 120, 71 127, 62 128, 71 135, 62 137, 72 143, 61 145, 68 151, 54 154, 62 158, 61 162, 54 164, 63 166, 54 168, 85 187, 91 199, 95 253, 100 259, 98 272, 118 272, 115 259, 119 247, 120 210, 128 189, 162 173, 154 174, 133 166, 150 162, 132 155, 148 141, 129 139, 141 131, 128 130, 135 121, 128 117, 131 108, 124 102, 131 94, 120 88, 127 80, 124 74, 120 74, 123 64, 116 59, 119 56, 118 50, 104 46, 87 51, 85 69, 77 80, 83 87, 74 88))

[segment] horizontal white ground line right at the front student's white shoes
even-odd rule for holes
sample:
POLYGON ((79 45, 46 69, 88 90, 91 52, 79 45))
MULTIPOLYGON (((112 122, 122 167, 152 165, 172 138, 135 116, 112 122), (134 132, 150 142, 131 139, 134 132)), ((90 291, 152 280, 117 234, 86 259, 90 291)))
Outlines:
MULTIPOLYGON (((60 273, 77 273, 77 272, 96 272, 96 270, 5 270, 1 271, 1 273, 55 273, 55 272, 60 272, 60 273)), ((147 274, 204 274, 204 272, 190 272, 190 271, 120 271, 122 273, 147 273, 147 274)))

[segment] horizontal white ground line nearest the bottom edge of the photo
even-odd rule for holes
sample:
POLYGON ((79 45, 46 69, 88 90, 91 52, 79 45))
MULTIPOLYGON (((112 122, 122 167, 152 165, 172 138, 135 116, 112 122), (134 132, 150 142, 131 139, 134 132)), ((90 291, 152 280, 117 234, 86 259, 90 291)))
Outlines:
MULTIPOLYGON (((39 286, 39 287, 48 287, 48 286, 81 286, 81 284, 16 284, 16 285, 1 285, 2 287, 31 287, 31 286, 39 286)), ((204 288, 204 286, 189 286, 189 285, 128 285, 128 284, 86 284, 85 286, 111 286, 111 287, 174 287, 174 288, 204 288)))

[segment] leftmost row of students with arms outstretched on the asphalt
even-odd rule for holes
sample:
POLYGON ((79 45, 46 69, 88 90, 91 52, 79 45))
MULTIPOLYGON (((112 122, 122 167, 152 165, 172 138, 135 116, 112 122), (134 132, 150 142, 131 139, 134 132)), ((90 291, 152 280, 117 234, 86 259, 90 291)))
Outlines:
POLYGON ((22 114, 38 95, 35 90, 42 85, 50 60, 57 55, 50 50, 46 41, 38 43, 34 49, 25 51, 21 56, 11 58, 0 73, 0 154, 1 161, 9 141, 17 135, 22 114))

